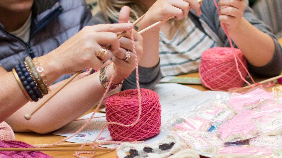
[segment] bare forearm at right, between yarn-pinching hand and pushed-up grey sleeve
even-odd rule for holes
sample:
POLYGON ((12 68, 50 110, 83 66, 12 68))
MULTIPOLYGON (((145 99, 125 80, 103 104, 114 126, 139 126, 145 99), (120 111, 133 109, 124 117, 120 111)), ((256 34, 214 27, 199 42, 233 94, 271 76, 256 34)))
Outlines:
POLYGON ((242 18, 238 29, 229 31, 231 39, 253 66, 264 66, 274 54, 273 39, 242 18))

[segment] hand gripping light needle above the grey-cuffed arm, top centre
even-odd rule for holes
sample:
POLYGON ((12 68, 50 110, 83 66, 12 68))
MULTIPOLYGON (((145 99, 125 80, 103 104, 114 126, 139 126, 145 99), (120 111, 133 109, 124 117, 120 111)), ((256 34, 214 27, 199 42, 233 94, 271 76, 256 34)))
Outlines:
MULTIPOLYGON (((155 22, 165 20, 174 16, 180 20, 188 15, 189 10, 195 9, 197 15, 201 15, 201 3, 197 0, 157 0, 146 12, 146 16, 141 21, 142 28, 148 27, 155 22)), ((158 25, 155 28, 160 28, 158 25)))

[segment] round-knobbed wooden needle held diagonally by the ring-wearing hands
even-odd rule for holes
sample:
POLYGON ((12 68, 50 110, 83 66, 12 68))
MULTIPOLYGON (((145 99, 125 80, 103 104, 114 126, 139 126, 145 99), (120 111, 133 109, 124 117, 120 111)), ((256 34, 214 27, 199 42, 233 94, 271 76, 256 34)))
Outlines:
MULTIPOLYGON (((136 24, 138 24, 145 16, 146 14, 144 14, 143 16, 141 16, 140 18, 138 18, 135 22, 133 22, 133 26, 135 26, 136 24)), ((118 35, 118 39, 120 39, 121 37, 123 37, 125 35, 126 32, 122 32, 120 35, 118 35)), ((109 49, 111 47, 111 45, 107 45, 106 48, 109 49)), ((90 68, 89 72, 92 71, 92 68, 90 68)), ((26 120, 30 120, 31 116, 36 113, 36 111, 38 111, 44 104, 46 104, 51 98, 53 98, 58 92, 60 92, 60 90, 62 90, 68 83, 70 83, 75 77, 77 77, 77 75, 79 75, 82 71, 79 71, 77 73, 75 73, 72 77, 70 77, 64 84, 62 84, 57 90, 55 90, 55 92, 53 92, 52 94, 50 94, 50 96, 48 96, 42 103, 40 103, 33 111, 31 111, 31 113, 29 114, 25 114, 25 119, 26 120)))

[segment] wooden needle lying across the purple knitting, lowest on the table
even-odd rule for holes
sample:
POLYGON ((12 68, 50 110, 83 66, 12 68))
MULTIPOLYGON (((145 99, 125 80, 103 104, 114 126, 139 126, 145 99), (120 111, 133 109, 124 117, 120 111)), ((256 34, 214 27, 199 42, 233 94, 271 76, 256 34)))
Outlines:
POLYGON ((114 151, 114 149, 0 148, 0 151, 114 151))

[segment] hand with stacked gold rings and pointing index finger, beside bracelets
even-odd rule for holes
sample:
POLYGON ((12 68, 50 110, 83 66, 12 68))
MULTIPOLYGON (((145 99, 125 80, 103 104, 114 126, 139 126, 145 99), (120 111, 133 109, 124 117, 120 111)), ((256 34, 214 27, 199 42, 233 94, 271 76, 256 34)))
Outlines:
POLYGON ((81 31, 64 42, 60 47, 46 56, 55 60, 56 70, 60 75, 71 74, 86 68, 98 69, 103 61, 111 58, 112 53, 120 48, 120 42, 116 33, 130 31, 132 24, 100 24, 85 26, 81 31), (111 45, 106 55, 98 58, 100 45, 111 45))

